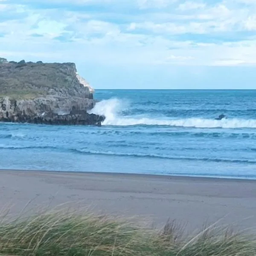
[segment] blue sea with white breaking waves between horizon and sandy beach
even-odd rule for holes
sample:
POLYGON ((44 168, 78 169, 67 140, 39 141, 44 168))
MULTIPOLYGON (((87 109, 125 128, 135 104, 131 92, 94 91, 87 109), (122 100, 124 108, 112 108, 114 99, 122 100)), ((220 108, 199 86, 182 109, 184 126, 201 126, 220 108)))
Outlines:
POLYGON ((0 123, 0 169, 256 178, 256 90, 97 90, 95 98, 102 127, 0 123))

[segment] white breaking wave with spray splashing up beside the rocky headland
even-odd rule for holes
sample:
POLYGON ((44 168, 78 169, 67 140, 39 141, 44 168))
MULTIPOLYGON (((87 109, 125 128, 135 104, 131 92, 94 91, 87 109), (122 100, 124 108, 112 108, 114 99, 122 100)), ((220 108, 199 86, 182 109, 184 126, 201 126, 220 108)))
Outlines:
MULTIPOLYGON (((126 103, 126 102, 125 102, 126 103)), ((126 105, 126 104, 125 104, 126 105)), ((155 119, 150 117, 122 116, 124 103, 119 99, 109 99, 98 102, 91 113, 105 115, 102 125, 169 125, 195 128, 256 128, 256 119, 155 119)))

